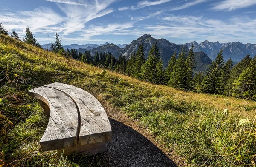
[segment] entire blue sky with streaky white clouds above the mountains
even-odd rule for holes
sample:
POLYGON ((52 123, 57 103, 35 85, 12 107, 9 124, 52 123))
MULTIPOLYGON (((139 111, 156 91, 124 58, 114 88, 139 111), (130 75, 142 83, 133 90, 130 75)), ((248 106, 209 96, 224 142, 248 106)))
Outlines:
POLYGON ((256 44, 256 0, 1 0, 9 33, 27 26, 41 43, 131 43, 143 34, 174 43, 256 44))

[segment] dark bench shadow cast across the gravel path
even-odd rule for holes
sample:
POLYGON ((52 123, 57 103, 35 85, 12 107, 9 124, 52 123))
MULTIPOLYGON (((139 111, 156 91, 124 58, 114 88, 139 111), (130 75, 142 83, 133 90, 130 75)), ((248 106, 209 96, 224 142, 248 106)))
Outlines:
POLYGON ((157 146, 127 125, 109 118, 112 140, 99 154, 102 167, 177 167, 157 146))

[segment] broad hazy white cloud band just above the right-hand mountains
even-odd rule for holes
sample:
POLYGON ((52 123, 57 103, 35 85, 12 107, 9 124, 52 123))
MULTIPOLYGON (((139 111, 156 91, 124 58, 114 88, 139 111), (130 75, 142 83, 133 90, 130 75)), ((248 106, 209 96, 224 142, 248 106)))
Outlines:
MULTIPOLYGON (((154 37, 190 40, 211 40, 221 42, 255 40, 256 19, 250 17, 232 17, 221 21, 205 17, 170 15, 157 25, 146 25, 140 33, 148 33, 154 37), (166 22, 164 22, 166 21, 166 22), (175 32, 175 33, 174 33, 175 32)), ((137 32, 136 32, 137 33, 137 32)))

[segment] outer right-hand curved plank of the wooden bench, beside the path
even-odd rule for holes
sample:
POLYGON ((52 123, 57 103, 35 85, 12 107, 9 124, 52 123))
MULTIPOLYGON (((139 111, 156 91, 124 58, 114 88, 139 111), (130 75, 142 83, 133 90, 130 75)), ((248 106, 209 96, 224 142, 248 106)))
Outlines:
POLYGON ((67 84, 52 83, 46 86, 64 91, 72 96, 78 104, 81 115, 79 135, 81 145, 111 140, 112 132, 108 116, 94 96, 80 88, 67 84), (87 136, 89 135, 88 133, 90 138, 87 136))

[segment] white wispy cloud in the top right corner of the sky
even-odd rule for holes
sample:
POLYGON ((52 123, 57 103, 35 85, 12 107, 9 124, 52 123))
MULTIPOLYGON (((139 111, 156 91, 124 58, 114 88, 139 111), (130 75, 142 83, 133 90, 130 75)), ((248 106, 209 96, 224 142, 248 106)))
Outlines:
POLYGON ((247 8, 256 5, 256 0, 224 0, 216 4, 212 9, 222 11, 233 11, 239 8, 247 8))

